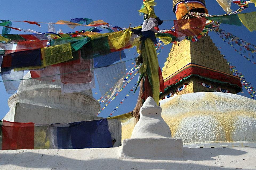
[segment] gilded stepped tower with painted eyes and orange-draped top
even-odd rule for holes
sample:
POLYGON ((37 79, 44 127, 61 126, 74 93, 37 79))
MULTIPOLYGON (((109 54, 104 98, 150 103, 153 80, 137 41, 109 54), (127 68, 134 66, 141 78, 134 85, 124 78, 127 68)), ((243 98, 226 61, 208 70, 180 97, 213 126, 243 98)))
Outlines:
MULTIPOLYGON (((187 19, 187 12, 208 13, 204 0, 173 0, 177 19, 187 19)), ((241 91, 240 79, 232 74, 227 61, 208 35, 197 42, 183 40, 173 44, 162 69, 165 92, 160 96, 194 92, 241 91)))

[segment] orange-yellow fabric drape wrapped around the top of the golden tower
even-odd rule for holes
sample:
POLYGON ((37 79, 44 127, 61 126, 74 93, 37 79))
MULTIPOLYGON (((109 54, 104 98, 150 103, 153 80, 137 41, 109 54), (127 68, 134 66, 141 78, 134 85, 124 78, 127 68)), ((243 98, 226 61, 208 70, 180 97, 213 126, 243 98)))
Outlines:
POLYGON ((208 14, 207 8, 205 8, 201 3, 191 2, 191 3, 180 3, 176 7, 176 18, 182 19, 183 16, 187 14, 187 12, 191 9, 195 8, 203 8, 205 13, 208 14))

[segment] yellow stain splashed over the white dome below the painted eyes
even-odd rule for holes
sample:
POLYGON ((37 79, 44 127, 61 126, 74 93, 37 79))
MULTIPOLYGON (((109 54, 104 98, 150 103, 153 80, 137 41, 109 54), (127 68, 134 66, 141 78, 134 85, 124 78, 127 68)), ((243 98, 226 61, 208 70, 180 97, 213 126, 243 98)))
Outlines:
MULTIPOLYGON (((196 98, 198 99, 198 98, 196 98)), ((190 99, 191 100, 191 99, 190 99)), ((187 102, 186 100, 182 100, 182 97, 174 97, 173 99, 170 100, 168 103, 163 103, 161 104, 161 107, 168 111, 168 108, 170 106, 173 107, 180 107, 182 108, 182 103, 187 102)), ((256 119, 256 113, 247 111, 245 109, 239 109, 239 110, 230 110, 230 111, 221 111, 221 106, 219 107, 219 103, 233 103, 234 100, 232 98, 227 98, 227 97, 221 97, 219 98, 218 95, 215 95, 214 93, 207 93, 202 96, 201 100, 197 101, 197 103, 193 103, 194 105, 191 106, 191 111, 187 112, 185 111, 184 113, 177 113, 177 114, 168 114, 168 113, 162 113, 163 119, 166 121, 166 123, 170 126, 172 137, 175 137, 175 134, 177 133, 177 129, 179 125, 181 124, 181 121, 184 118, 189 118, 193 116, 212 116, 214 119, 217 121, 217 129, 223 129, 225 133, 225 142, 234 142, 234 139, 232 139, 232 134, 235 131, 235 123, 237 122, 237 117, 238 116, 248 116, 256 119), (215 100, 215 103, 212 105, 209 105, 208 107, 213 107, 209 109, 208 111, 206 110, 207 105, 215 100), (204 111, 201 111, 200 109, 204 109, 204 111)), ((223 104, 222 104, 223 105, 223 104)), ((223 107, 223 106, 222 106, 223 107)), ((232 109, 232 108, 230 108, 232 109)), ((196 132, 195 132, 196 133, 196 132)), ((214 142, 223 142, 221 140, 221 134, 219 133, 218 130, 215 131, 215 141, 214 142)), ((196 142, 196 141, 195 141, 196 142)), ((199 141, 198 141, 199 142, 199 141)), ((211 141, 213 142, 213 141, 211 141)))

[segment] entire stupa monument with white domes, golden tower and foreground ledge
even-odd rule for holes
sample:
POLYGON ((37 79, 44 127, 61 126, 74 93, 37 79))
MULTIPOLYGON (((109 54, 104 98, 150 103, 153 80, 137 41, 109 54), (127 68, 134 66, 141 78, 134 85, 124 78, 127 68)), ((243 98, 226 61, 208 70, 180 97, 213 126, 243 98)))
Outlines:
MULTIPOLYGON (((173 11, 177 19, 208 14, 204 0, 173 0, 173 11)), ((108 118, 110 132, 119 134, 113 148, 0 150, 0 169, 256 169, 256 101, 237 95, 240 78, 210 36, 173 44, 162 75, 159 105, 147 97, 139 120, 132 113, 108 118)), ((41 82, 30 72, 25 78, 4 120, 102 119, 91 90, 62 94, 60 80, 41 82)))

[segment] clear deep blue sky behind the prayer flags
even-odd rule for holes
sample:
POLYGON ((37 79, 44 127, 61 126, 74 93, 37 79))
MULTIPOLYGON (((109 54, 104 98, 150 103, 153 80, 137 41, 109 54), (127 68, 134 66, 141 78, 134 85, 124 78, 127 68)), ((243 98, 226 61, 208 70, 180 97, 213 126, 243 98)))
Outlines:
MULTIPOLYGON (((172 1, 163 1, 156 0, 157 6, 155 7, 155 13, 161 20, 172 20, 176 19, 172 10, 172 1)), ((36 21, 36 22, 57 22, 58 20, 67 20, 70 21, 71 18, 91 18, 93 20, 102 19, 105 22, 119 27, 131 27, 140 25, 143 23, 143 17, 138 15, 138 11, 142 5, 142 0, 137 1, 120 1, 120 0, 98 0, 98 1, 86 1, 86 0, 77 0, 77 1, 67 1, 67 0, 55 0, 55 1, 5 1, 4 5, 1 8, 1 18, 2 20, 17 20, 17 21, 36 21)), ((209 14, 212 15, 221 15, 225 14, 225 11, 218 5, 215 0, 206 0, 206 7, 209 10, 209 14)), ((233 10, 238 9, 238 6, 233 4, 231 6, 233 10)), ((256 11, 256 8, 253 4, 249 5, 249 8, 245 12, 256 11)), ((23 28, 23 29, 33 29, 39 32, 47 31, 47 24, 41 24, 39 28, 37 25, 30 25, 28 23, 13 22, 13 27, 23 28)), ((173 26, 173 21, 164 22, 160 29, 170 29, 173 26)), ((75 30, 86 29, 86 27, 78 26, 75 29, 70 29, 66 25, 55 25, 56 30, 60 28, 63 32, 73 32, 75 30)), ((250 42, 256 45, 256 31, 250 32, 245 26, 233 26, 221 24, 220 28, 229 31, 235 36, 240 37, 241 39, 250 42)), ((1 28, 2 29, 2 28, 1 28)), ((25 32, 11 30, 11 34, 26 34, 25 32)), ((226 56, 226 59, 230 61, 234 66, 237 67, 238 71, 245 75, 245 78, 248 82, 251 82, 254 87, 256 87, 255 71, 256 65, 250 63, 245 58, 241 57, 237 52, 234 51, 231 46, 227 43, 224 43, 218 35, 214 32, 210 32, 209 35, 213 39, 213 42, 216 46, 221 47, 219 49, 223 55, 226 56)), ((170 52, 171 45, 164 46, 161 54, 158 55, 159 65, 162 68, 166 57, 170 52)), ((127 59, 134 58, 136 53, 135 48, 125 51, 127 54, 127 59)), ((249 57, 250 58, 250 57, 249 57)), ((253 60, 253 59, 252 59, 253 60)), ((254 58, 256 61, 256 58, 254 58)), ((209 61, 210 62, 210 61, 209 61)), ((126 63, 127 69, 131 65, 132 61, 126 63)), ((1 78, 0 78, 1 79, 1 78)), ((2 80, 2 79, 1 79, 2 80)), ((120 101, 126 96, 128 91, 133 87, 137 81, 137 76, 132 80, 127 87, 120 92, 115 101, 111 102, 99 116, 107 117, 114 108, 120 103, 120 101)), ((250 98, 248 92, 243 88, 244 93, 239 93, 250 98)), ((10 94, 7 94, 3 82, 0 82, 0 94, 1 94, 1 103, 0 103, 0 119, 5 116, 9 111, 7 105, 7 100, 10 97, 10 94)), ((99 90, 93 89, 93 94, 96 99, 101 97, 99 90), (98 95, 94 93, 97 92, 98 95)), ((113 116, 127 113, 132 111, 136 101, 137 93, 127 97, 123 104, 119 106, 118 111, 116 111, 113 116)))

